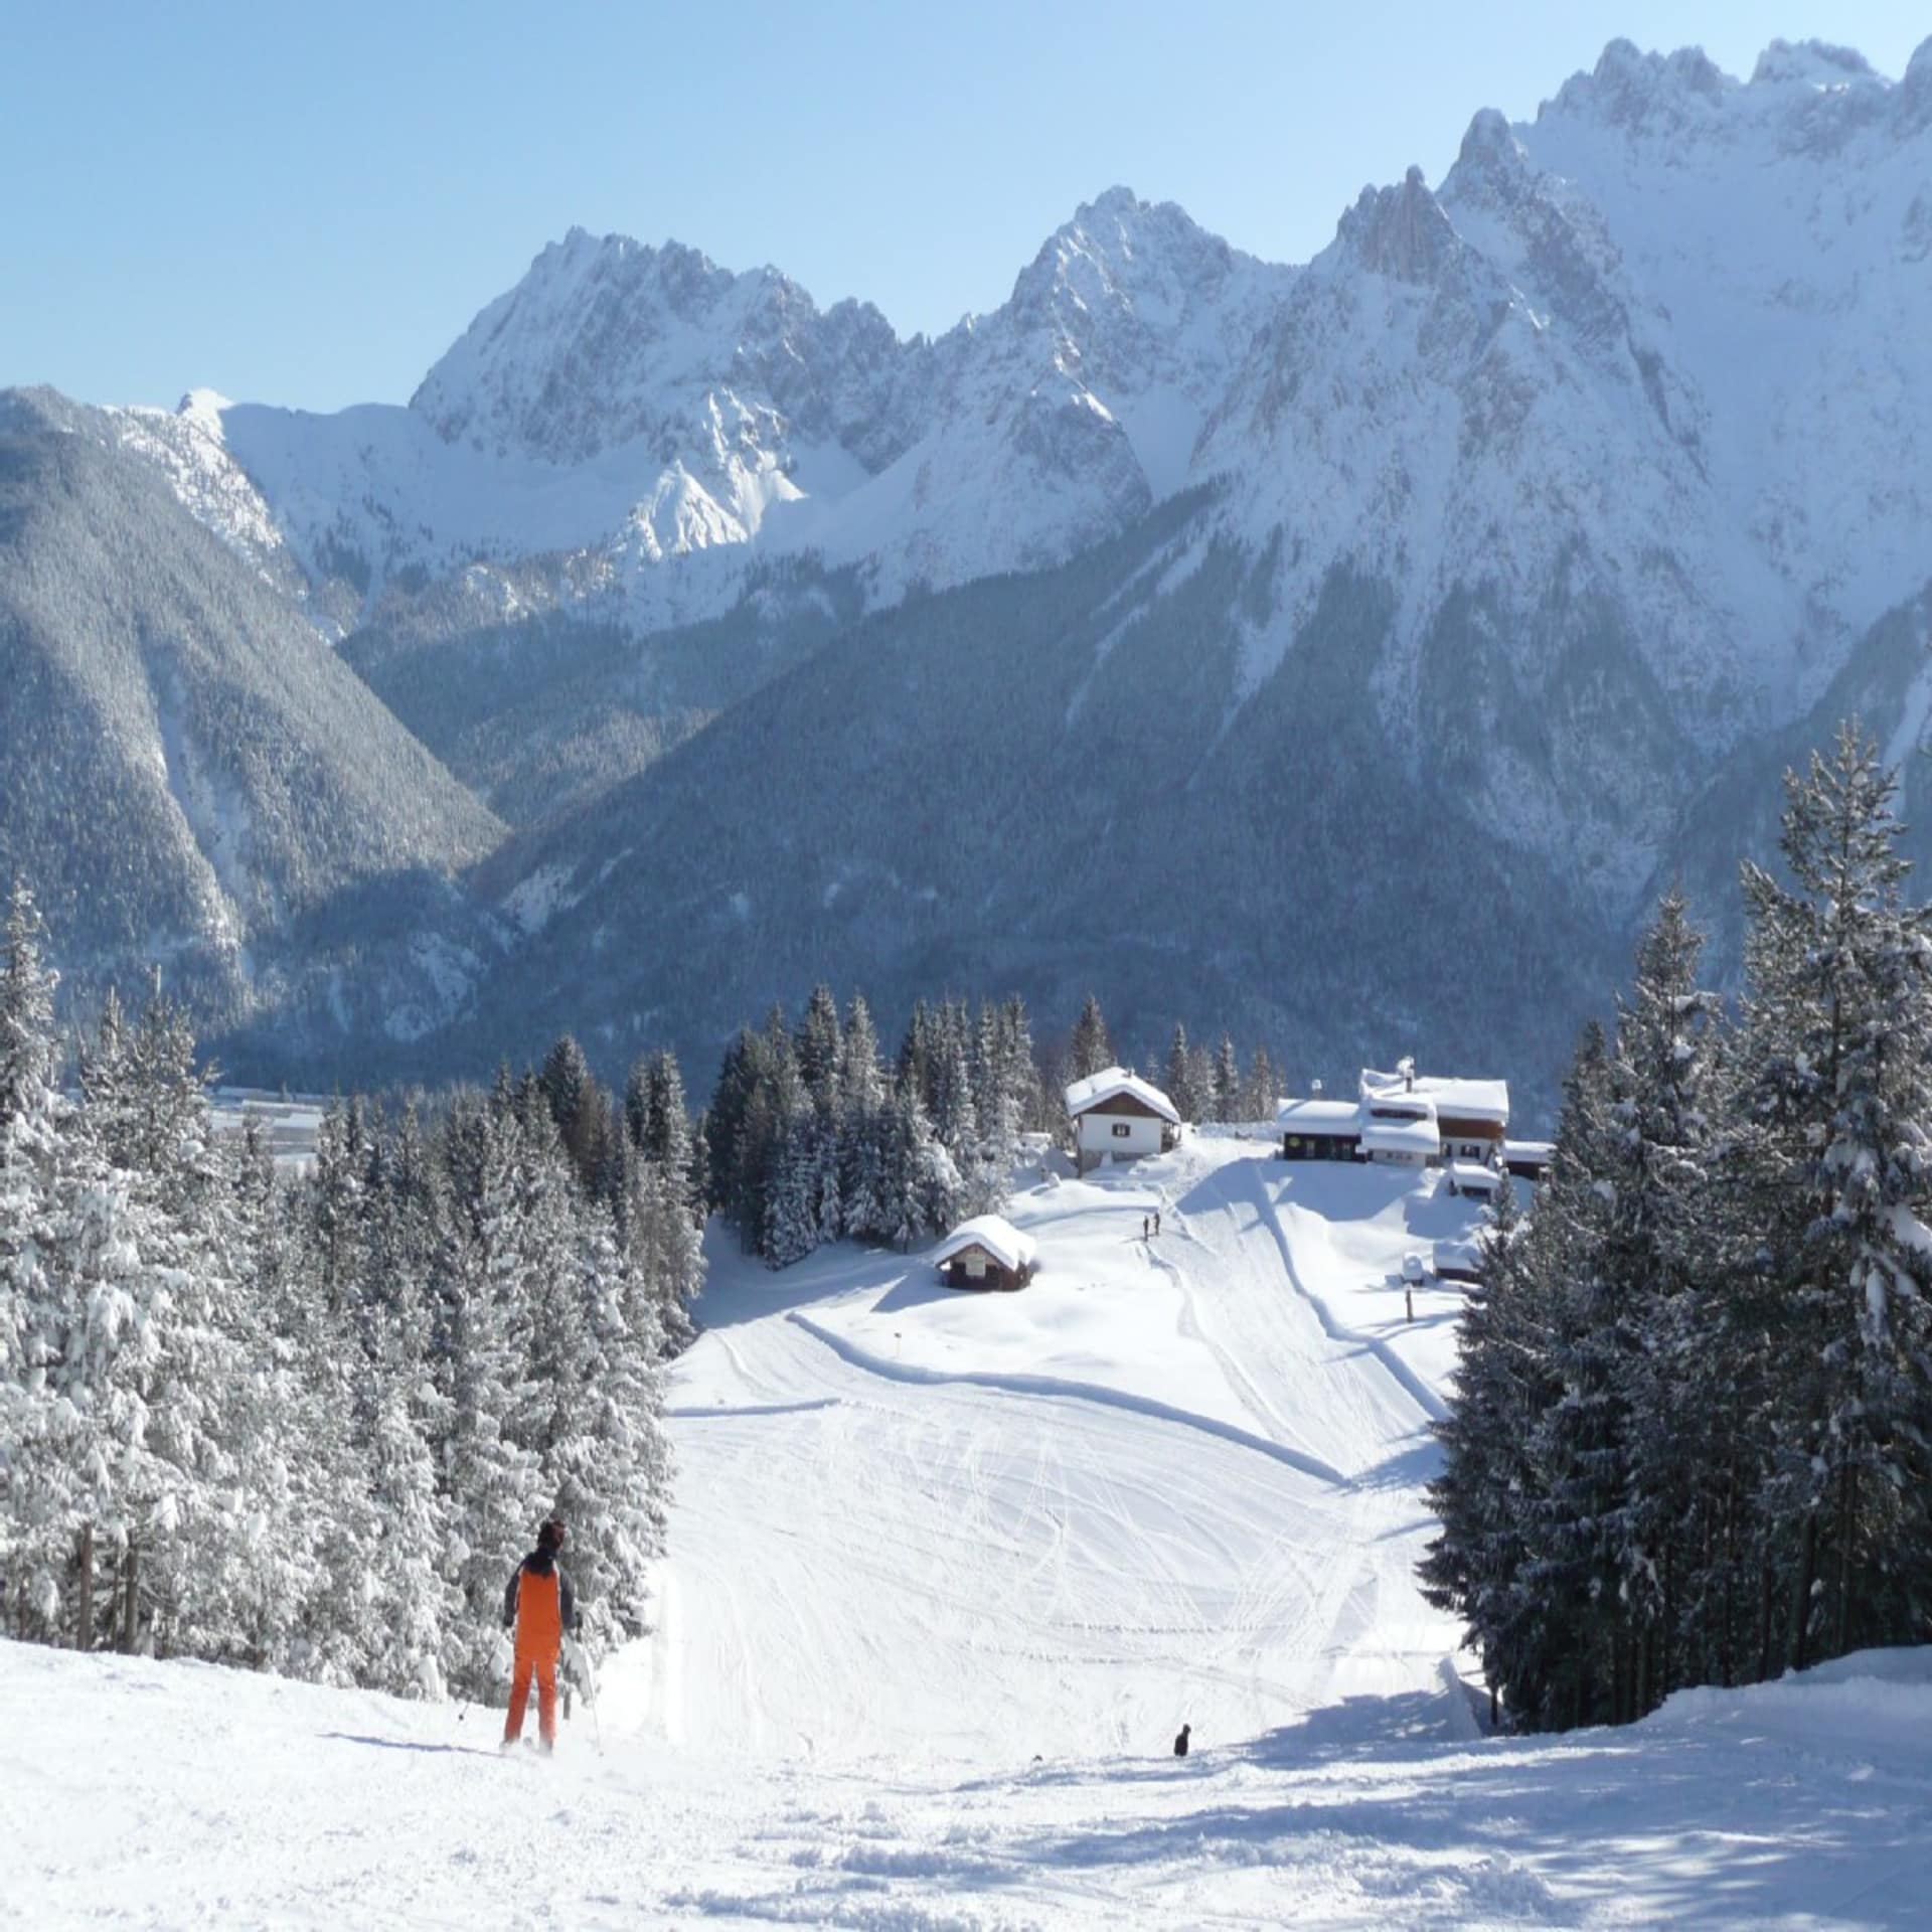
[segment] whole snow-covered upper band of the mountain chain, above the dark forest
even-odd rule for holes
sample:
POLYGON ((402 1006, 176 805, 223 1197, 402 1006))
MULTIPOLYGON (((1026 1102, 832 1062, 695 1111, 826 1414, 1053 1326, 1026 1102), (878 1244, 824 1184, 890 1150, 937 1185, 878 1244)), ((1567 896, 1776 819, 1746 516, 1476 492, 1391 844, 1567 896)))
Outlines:
POLYGON ((1115 187, 1001 307, 900 340, 775 269, 574 230, 408 410, 197 404, 143 435, 197 514, 311 578, 373 597, 564 553, 641 626, 728 603, 753 553, 856 564, 889 601, 1213 479, 1233 535, 1283 537, 1250 686, 1329 574, 1366 570, 1397 599, 1378 701, 1416 738, 1445 601, 1482 601, 1534 694, 1559 591, 1721 750, 1922 583, 1928 184, 1932 41, 1897 81, 1818 43, 1741 81, 1617 41, 1534 122, 1478 114, 1437 187, 1364 189, 1308 269, 1115 187))

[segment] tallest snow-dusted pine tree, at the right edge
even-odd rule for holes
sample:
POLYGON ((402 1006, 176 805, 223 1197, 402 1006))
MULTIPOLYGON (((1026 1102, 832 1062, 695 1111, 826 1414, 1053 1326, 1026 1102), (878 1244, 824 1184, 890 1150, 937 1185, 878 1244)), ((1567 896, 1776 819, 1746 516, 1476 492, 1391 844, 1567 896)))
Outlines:
POLYGON ((1745 867, 1741 1103, 1779 1275, 1762 1507, 1797 1667, 1932 1629, 1932 922, 1893 796, 1847 723, 1787 777, 1791 883, 1745 867))

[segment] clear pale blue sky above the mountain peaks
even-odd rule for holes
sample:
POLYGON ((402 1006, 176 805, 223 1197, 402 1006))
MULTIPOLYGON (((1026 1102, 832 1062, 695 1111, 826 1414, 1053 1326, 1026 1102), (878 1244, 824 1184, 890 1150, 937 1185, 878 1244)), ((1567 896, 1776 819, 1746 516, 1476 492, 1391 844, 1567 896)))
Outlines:
POLYGON ((1604 43, 1772 39, 1897 75, 1889 0, 583 8, 0 0, 0 384, 406 400, 568 226, 771 261, 900 332, 1005 299, 1115 182, 1304 261, 1604 43))

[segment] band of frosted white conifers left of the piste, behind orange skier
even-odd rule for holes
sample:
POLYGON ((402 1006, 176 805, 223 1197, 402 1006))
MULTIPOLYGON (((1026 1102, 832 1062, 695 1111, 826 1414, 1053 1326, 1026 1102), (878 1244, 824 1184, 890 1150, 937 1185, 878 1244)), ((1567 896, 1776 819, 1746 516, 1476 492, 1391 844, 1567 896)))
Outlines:
POLYGON ((636 1136, 593 1130, 560 1049, 435 1121, 336 1105, 284 1179, 253 1126, 214 1134, 162 999, 131 1024, 110 999, 66 1094, 41 952, 15 893, 0 1629, 487 1696, 504 1580, 554 1511, 587 1640, 641 1631, 659 1364, 701 1279, 665 1068, 636 1136))

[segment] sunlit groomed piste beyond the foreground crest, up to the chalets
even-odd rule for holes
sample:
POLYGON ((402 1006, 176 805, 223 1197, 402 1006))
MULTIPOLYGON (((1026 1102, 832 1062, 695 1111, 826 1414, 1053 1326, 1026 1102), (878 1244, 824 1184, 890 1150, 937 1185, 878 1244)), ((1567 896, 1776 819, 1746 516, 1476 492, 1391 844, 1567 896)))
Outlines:
POLYGON ((1410 1573, 1457 1296, 1410 1327, 1395 1277, 1466 1204, 1265 1155, 1022 1192, 1018 1294, 717 1252, 636 1716, 680 1750, 991 1770, 1439 1687, 1455 1629, 1410 1573))

